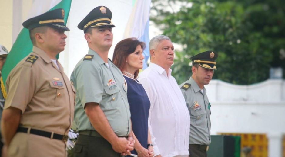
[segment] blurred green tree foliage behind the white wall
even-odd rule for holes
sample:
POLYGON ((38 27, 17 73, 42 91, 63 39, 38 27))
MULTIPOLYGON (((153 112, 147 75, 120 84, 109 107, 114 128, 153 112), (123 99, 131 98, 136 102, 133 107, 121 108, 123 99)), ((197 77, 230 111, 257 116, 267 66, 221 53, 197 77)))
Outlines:
POLYGON ((219 54, 213 79, 233 84, 264 81, 270 67, 285 69, 284 0, 153 0, 150 15, 182 47, 172 66, 179 84, 192 75, 189 57, 206 50, 219 54))

